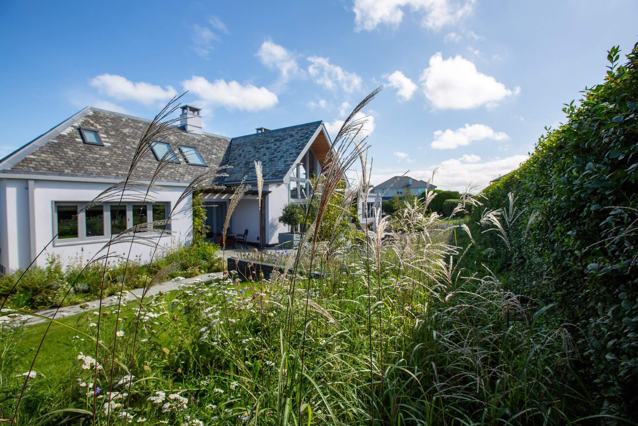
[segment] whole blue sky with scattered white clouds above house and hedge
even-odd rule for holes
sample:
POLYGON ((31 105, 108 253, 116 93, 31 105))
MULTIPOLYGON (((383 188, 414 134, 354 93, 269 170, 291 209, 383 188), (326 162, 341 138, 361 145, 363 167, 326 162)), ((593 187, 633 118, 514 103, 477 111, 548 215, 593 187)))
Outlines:
POLYGON ((227 136, 365 109, 373 182, 460 189, 516 168, 636 41, 634 0, 11 2, 0 156, 86 105, 151 118, 175 93, 227 136), (349 110, 348 110, 349 112, 349 110))

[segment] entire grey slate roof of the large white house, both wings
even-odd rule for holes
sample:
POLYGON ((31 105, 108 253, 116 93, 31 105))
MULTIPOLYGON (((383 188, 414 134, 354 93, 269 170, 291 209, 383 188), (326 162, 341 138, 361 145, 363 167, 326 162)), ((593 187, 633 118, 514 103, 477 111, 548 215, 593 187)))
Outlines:
MULTIPOLYGON (((128 174, 140 136, 150 122, 86 107, 0 159, 0 172, 123 177, 128 174), (104 146, 85 144, 80 128, 96 130, 104 146)), ((247 181, 255 181, 255 160, 262 161, 264 179, 283 179, 322 123, 315 121, 232 139, 212 133, 195 135, 178 131, 163 141, 197 148, 207 167, 232 165, 223 171, 229 174, 224 182, 241 181, 244 176, 247 181)), ((149 150, 139 162, 136 174, 151 174, 157 164, 158 160, 149 150)), ((169 167, 161 179, 191 181, 203 169, 200 165, 184 164, 182 160, 181 167, 169 167)))

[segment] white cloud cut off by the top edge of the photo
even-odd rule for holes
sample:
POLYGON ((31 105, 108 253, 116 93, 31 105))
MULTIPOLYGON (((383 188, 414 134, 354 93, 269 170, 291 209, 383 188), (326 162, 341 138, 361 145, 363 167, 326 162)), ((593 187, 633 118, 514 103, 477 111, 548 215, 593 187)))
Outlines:
POLYGON ((403 8, 420 12, 421 25, 439 30, 456 24, 473 11, 475 0, 355 0, 355 31, 371 31, 380 24, 397 27, 403 20, 403 8))

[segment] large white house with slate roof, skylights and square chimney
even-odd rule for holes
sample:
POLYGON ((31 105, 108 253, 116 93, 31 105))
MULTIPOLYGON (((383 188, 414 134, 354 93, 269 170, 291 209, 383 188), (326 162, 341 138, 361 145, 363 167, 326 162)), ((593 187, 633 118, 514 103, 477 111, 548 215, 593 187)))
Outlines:
MULTIPOLYGON (((87 202, 129 171, 140 136, 149 120, 86 107, 48 132, 0 159, 0 266, 15 270, 26 268, 40 250, 47 250, 36 264, 44 264, 47 255, 59 255, 63 262, 74 258, 90 259, 112 235, 133 225, 170 217, 172 235, 145 232, 157 238, 159 245, 188 245, 193 238, 191 197, 179 206, 184 188, 205 167, 231 165, 221 178, 219 190, 204 194, 208 237, 218 241, 223 232, 233 185, 244 180, 251 185, 237 205, 229 224, 230 233, 244 234, 247 241, 259 245, 278 243, 279 232, 288 232, 278 221, 288 202, 304 202, 309 178, 320 174, 330 150, 330 137, 323 121, 225 137, 202 132, 200 109, 184 105, 181 126, 161 141, 156 141, 136 167, 136 174, 151 174, 158 159, 168 151, 175 166, 157 182, 165 190, 144 200, 126 194, 117 201, 103 202, 84 209, 87 202), (175 144, 184 144, 175 148, 175 144), (255 160, 263 165, 262 208, 258 207, 255 160)), ((114 246, 118 254, 128 252, 128 243, 114 246)), ((147 261, 149 247, 133 245, 129 254, 147 261)), ((0 269, 1 270, 1 269, 0 269)))

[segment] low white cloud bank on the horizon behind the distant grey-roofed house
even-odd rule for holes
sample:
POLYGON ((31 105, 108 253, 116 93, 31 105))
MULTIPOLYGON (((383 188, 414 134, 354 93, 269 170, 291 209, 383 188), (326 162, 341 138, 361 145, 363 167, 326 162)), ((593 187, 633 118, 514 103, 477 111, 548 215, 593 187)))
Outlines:
MULTIPOLYGON (((434 175, 434 185, 439 189, 463 191, 470 183, 480 186, 488 185, 489 181, 516 169, 528 158, 527 155, 512 155, 480 162, 480 158, 477 157, 464 155, 461 158, 450 158, 427 169, 411 170, 410 177, 427 181, 432 177, 434 168, 438 167, 434 175)), ((401 169, 385 169, 382 174, 373 174, 371 181, 378 184, 404 172, 405 170, 401 169)))

